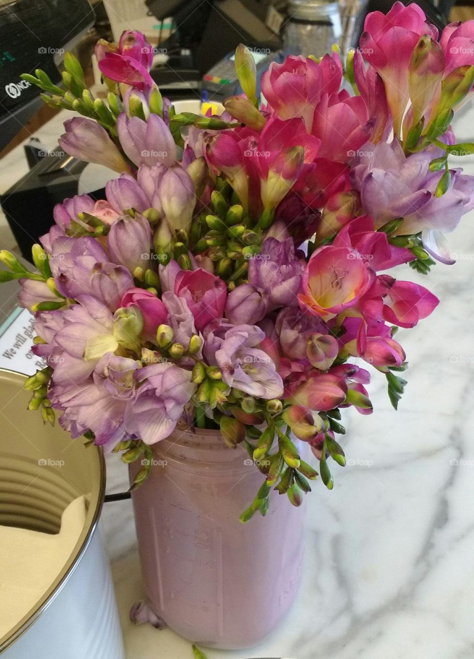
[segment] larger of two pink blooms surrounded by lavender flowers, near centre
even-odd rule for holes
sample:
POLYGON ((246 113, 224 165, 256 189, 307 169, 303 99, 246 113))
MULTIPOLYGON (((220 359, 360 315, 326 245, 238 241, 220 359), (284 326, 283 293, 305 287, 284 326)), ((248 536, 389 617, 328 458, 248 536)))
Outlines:
POLYGON ((180 270, 174 280, 174 293, 186 300, 198 330, 223 316, 227 287, 207 270, 180 270))

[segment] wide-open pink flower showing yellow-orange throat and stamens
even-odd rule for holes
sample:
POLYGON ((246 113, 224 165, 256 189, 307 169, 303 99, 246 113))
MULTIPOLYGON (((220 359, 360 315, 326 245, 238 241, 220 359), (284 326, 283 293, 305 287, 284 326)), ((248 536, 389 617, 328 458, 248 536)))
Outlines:
POLYGON ((316 250, 303 273, 300 306, 326 320, 354 306, 375 277, 358 256, 347 247, 328 245, 316 250))

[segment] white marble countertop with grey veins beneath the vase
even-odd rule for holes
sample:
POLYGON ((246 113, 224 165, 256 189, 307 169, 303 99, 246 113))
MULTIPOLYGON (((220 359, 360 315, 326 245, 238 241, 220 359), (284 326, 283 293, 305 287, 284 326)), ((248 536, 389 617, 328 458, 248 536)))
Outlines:
MULTIPOLYGON (((60 123, 58 115, 38 132, 49 148, 60 123)), ((467 113, 457 117, 458 141, 473 139, 470 126, 467 113)), ((463 167, 474 174, 474 156, 463 167)), ((26 169, 16 148, 0 162, 1 189, 26 169)), ((334 467, 332 492, 319 482, 306 498, 303 585, 290 614, 261 645, 206 650, 209 659, 474 655, 473 223, 471 212, 448 237, 454 266, 437 264, 429 277, 398 268, 399 277, 427 285, 441 302, 413 331, 400 329, 410 368, 398 412, 374 372, 375 413, 344 415, 348 465, 334 467)), ((13 245, 2 218, 0 239, 13 245)), ((125 488, 126 467, 111 455, 107 491, 125 488)), ((172 631, 128 620, 144 595, 130 501, 106 503, 102 525, 127 659, 192 659, 190 643, 172 631)))

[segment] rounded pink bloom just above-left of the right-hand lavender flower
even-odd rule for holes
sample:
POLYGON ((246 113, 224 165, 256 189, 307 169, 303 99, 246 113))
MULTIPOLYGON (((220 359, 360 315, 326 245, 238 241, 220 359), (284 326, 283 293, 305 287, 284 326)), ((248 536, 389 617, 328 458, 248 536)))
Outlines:
POLYGON ((361 96, 323 94, 318 103, 311 134, 321 140, 319 157, 345 162, 370 137, 375 120, 369 119, 361 96))

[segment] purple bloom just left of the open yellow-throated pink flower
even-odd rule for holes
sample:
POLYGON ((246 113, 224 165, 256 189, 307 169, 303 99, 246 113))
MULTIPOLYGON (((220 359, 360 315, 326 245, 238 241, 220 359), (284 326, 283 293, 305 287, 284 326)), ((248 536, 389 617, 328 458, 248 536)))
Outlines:
POLYGON ((249 259, 248 279, 255 288, 267 293, 270 310, 297 306, 303 268, 291 238, 285 241, 267 238, 260 253, 249 259))

